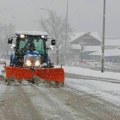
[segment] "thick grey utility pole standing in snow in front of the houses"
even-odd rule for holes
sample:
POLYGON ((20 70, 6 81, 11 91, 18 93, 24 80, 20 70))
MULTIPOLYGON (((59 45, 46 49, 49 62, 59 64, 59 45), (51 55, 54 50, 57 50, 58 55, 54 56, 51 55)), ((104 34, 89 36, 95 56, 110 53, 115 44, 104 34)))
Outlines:
POLYGON ((105 50, 105 17, 106 17, 106 0, 103 1, 103 31, 102 31, 102 63, 101 72, 104 72, 104 50, 105 50))

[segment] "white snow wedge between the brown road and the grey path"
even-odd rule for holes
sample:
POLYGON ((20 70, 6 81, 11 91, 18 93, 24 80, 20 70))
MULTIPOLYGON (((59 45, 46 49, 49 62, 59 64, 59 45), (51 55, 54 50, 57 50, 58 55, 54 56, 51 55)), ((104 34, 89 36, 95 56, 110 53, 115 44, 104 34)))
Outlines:
POLYGON ((67 79, 66 84, 79 92, 84 91, 120 106, 120 84, 82 79, 67 79))

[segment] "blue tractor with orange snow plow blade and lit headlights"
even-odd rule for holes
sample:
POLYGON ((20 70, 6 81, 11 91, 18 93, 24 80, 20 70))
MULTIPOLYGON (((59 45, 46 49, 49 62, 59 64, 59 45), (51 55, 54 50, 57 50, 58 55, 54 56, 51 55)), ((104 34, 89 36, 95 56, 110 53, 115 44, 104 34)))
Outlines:
MULTIPOLYGON (((46 45, 48 39, 48 35, 41 32, 16 32, 15 37, 9 38, 8 44, 12 44, 14 54, 10 56, 10 65, 5 67, 6 80, 34 83, 37 79, 63 86, 64 70, 54 68, 51 63, 46 45), (15 44, 12 44, 14 39, 15 44)), ((54 39, 51 39, 51 45, 55 45, 54 39)))

